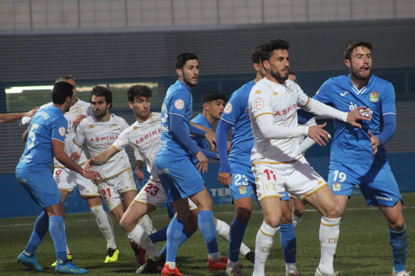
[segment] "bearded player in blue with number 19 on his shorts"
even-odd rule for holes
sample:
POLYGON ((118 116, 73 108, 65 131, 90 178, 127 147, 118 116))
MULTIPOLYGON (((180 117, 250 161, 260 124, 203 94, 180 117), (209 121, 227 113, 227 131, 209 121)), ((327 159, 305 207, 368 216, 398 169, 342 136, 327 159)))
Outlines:
POLYGON ((342 213, 355 185, 359 185, 366 204, 379 207, 389 226, 392 275, 408 276, 403 201, 385 150, 385 143, 393 137, 396 128, 395 90, 390 82, 371 74, 371 50, 372 44, 368 42, 349 43, 344 50, 344 63, 350 74, 328 79, 313 98, 343 111, 356 106, 371 110, 372 120, 363 122, 360 130, 334 120, 327 182, 342 213))

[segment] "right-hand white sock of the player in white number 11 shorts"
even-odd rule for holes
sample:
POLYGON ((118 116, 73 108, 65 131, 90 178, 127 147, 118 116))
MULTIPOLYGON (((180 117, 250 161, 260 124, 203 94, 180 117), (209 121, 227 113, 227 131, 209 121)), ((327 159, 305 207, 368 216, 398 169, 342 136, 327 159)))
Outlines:
POLYGON ((319 233, 321 257, 318 269, 320 269, 322 274, 332 274, 334 272, 333 257, 336 253, 337 241, 339 240, 339 228, 341 219, 341 217, 321 217, 319 233))

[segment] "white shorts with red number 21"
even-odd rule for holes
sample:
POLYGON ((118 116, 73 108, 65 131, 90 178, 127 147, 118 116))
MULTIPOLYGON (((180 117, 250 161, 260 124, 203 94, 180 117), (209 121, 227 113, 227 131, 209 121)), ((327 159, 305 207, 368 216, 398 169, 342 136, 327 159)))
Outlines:
POLYGON ((98 183, 98 188, 110 211, 121 204, 121 194, 131 191, 137 192, 132 170, 126 170, 112 178, 101 180, 98 183))

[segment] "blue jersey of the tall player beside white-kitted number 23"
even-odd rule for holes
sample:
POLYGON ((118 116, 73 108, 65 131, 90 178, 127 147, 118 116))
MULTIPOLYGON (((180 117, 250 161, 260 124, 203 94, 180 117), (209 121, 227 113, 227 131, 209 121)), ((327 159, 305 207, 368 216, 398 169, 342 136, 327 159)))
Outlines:
POLYGON ((170 114, 176 114, 184 117, 183 124, 190 135, 190 116, 192 115, 192 94, 190 88, 181 81, 176 81, 171 85, 164 97, 161 106, 161 139, 160 149, 157 155, 169 156, 186 156, 186 149, 183 149, 181 143, 170 132, 170 114))

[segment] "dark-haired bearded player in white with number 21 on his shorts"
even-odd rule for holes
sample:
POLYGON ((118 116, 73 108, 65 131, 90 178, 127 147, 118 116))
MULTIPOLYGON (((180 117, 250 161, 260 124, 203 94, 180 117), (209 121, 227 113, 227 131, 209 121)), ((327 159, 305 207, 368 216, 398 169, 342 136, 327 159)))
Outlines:
MULTIPOLYGON (((76 135, 73 138, 71 158, 79 158, 79 152, 86 145, 89 156, 95 156, 107 149, 123 130, 128 127, 127 122, 114 114, 109 113, 112 106, 112 93, 103 86, 95 86, 90 94, 90 102, 94 112, 93 117, 88 117, 79 124, 76 135)), ((125 208, 137 195, 136 184, 132 175, 131 164, 127 153, 123 150, 117 157, 105 166, 96 168, 102 173, 102 182, 98 187, 105 204, 111 211, 115 220, 119 223, 125 208)), ((112 224, 110 225, 112 230, 112 224)), ((112 230, 113 231, 113 230, 112 230)), ((118 259, 120 250, 115 240, 108 247, 107 257, 118 259)))

